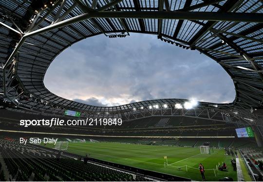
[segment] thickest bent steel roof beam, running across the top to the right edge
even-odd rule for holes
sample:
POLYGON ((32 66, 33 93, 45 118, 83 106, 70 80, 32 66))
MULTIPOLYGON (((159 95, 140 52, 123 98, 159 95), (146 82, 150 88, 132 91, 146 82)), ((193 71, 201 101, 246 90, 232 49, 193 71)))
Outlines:
POLYGON ((89 18, 154 18, 154 19, 192 19, 192 20, 214 20, 214 21, 247 21, 262 22, 263 14, 256 13, 216 13, 216 12, 92 12, 60 21, 53 25, 44 27, 31 33, 29 37, 39 33, 61 28, 72 23, 83 21, 89 18))

